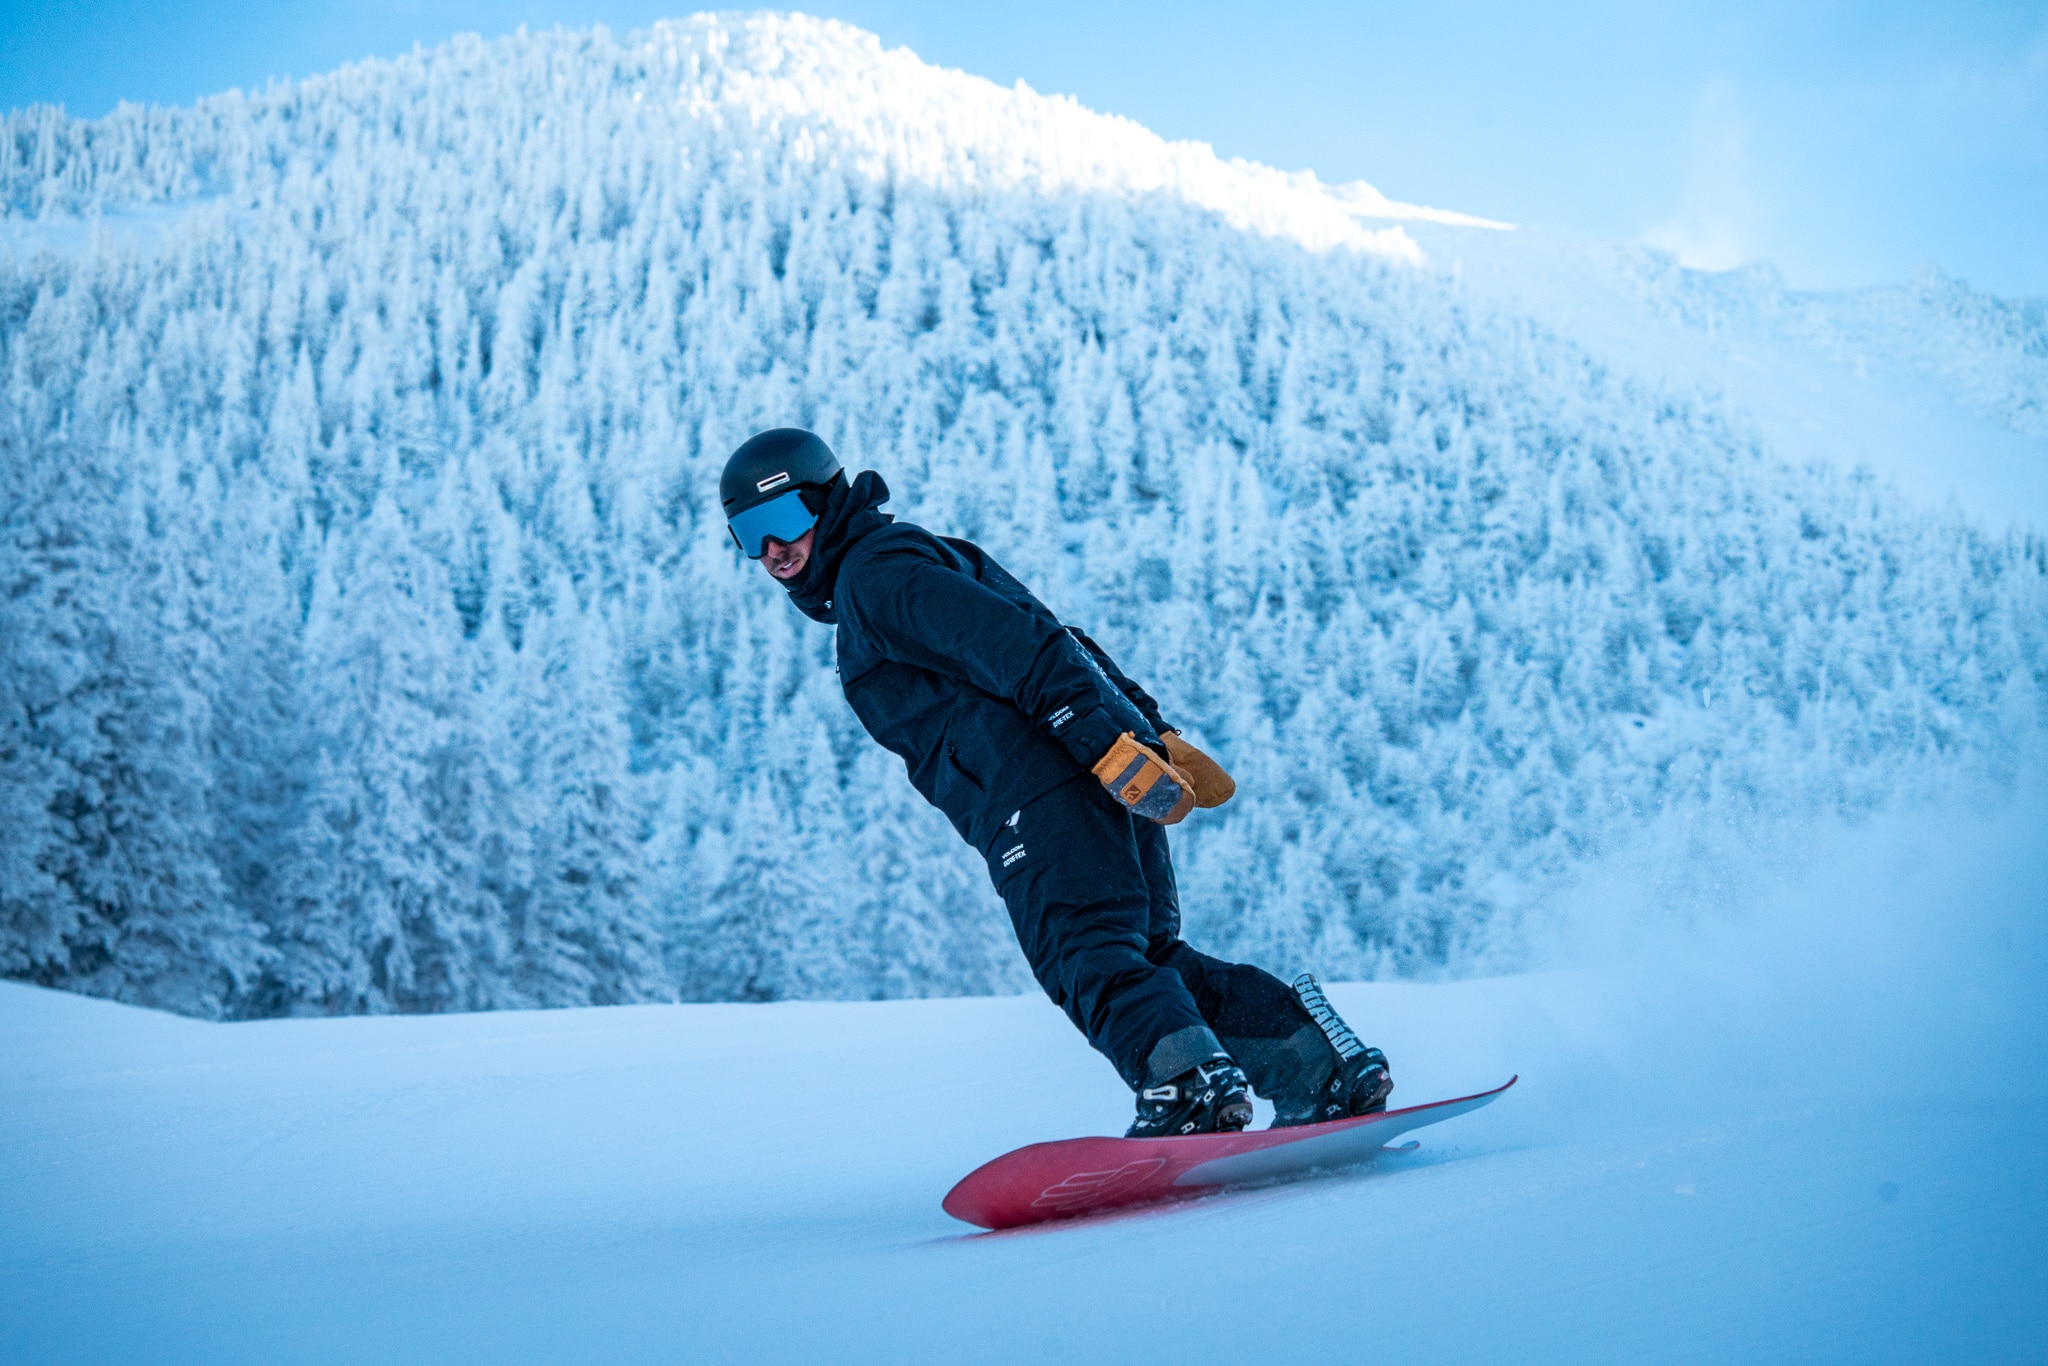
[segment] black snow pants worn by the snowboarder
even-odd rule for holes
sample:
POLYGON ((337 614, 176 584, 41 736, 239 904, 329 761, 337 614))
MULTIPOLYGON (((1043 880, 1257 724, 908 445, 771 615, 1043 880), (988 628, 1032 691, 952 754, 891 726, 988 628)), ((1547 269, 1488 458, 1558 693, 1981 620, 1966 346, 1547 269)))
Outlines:
POLYGON ((1010 817, 987 860, 1038 985, 1133 1090, 1219 1047, 1266 1098, 1327 1077, 1335 1053, 1286 983, 1182 942, 1165 829, 1094 774, 1010 817))

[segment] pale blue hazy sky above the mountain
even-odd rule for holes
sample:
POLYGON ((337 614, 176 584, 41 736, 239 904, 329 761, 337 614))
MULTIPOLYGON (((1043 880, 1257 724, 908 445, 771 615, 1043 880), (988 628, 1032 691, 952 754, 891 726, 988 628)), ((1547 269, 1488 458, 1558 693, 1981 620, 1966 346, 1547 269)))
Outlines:
MULTIPOLYGON (((1225 156, 1794 285, 2048 295, 2048 0, 807 6, 1225 156)), ((0 106, 190 102, 657 0, 0 0, 0 106)))

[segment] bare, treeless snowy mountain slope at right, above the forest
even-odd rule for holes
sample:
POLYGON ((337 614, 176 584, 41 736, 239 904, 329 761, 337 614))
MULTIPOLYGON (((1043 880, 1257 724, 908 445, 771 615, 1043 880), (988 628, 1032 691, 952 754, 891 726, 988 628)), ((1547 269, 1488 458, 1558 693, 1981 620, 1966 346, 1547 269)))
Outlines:
POLYGON ((1802 293, 1767 266, 1679 268, 1645 248, 1417 225, 1432 262, 1544 317, 1602 365, 1720 391, 1792 461, 1868 467, 1987 526, 2048 526, 2048 301, 1909 285, 1802 293))

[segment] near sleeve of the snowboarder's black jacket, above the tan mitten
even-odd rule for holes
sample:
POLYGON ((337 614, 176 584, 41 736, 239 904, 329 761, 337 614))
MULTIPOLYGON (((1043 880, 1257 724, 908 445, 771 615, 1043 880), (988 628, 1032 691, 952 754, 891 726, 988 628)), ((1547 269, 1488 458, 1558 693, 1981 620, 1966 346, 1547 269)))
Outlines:
POLYGON ((842 580, 840 610, 854 614, 885 657, 1010 700, 1081 768, 1094 768, 1124 731, 1161 743, 1051 612, 1030 612, 915 549, 879 553, 856 582, 842 580))

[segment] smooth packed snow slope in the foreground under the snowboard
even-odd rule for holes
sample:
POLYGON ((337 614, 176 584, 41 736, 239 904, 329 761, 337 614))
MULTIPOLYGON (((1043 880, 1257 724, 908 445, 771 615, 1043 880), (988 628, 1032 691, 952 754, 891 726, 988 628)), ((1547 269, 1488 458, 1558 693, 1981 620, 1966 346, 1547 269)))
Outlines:
MULTIPOLYGON (((0 1358, 2040 1362, 2044 829, 1898 821, 1575 973, 1337 987, 1399 1100, 1522 1085, 1362 1173, 1020 1235, 940 1198, 1130 1110, 1032 995, 207 1024, 0 983, 0 1358)), ((1640 926, 1642 883, 1581 905, 1640 926)))

